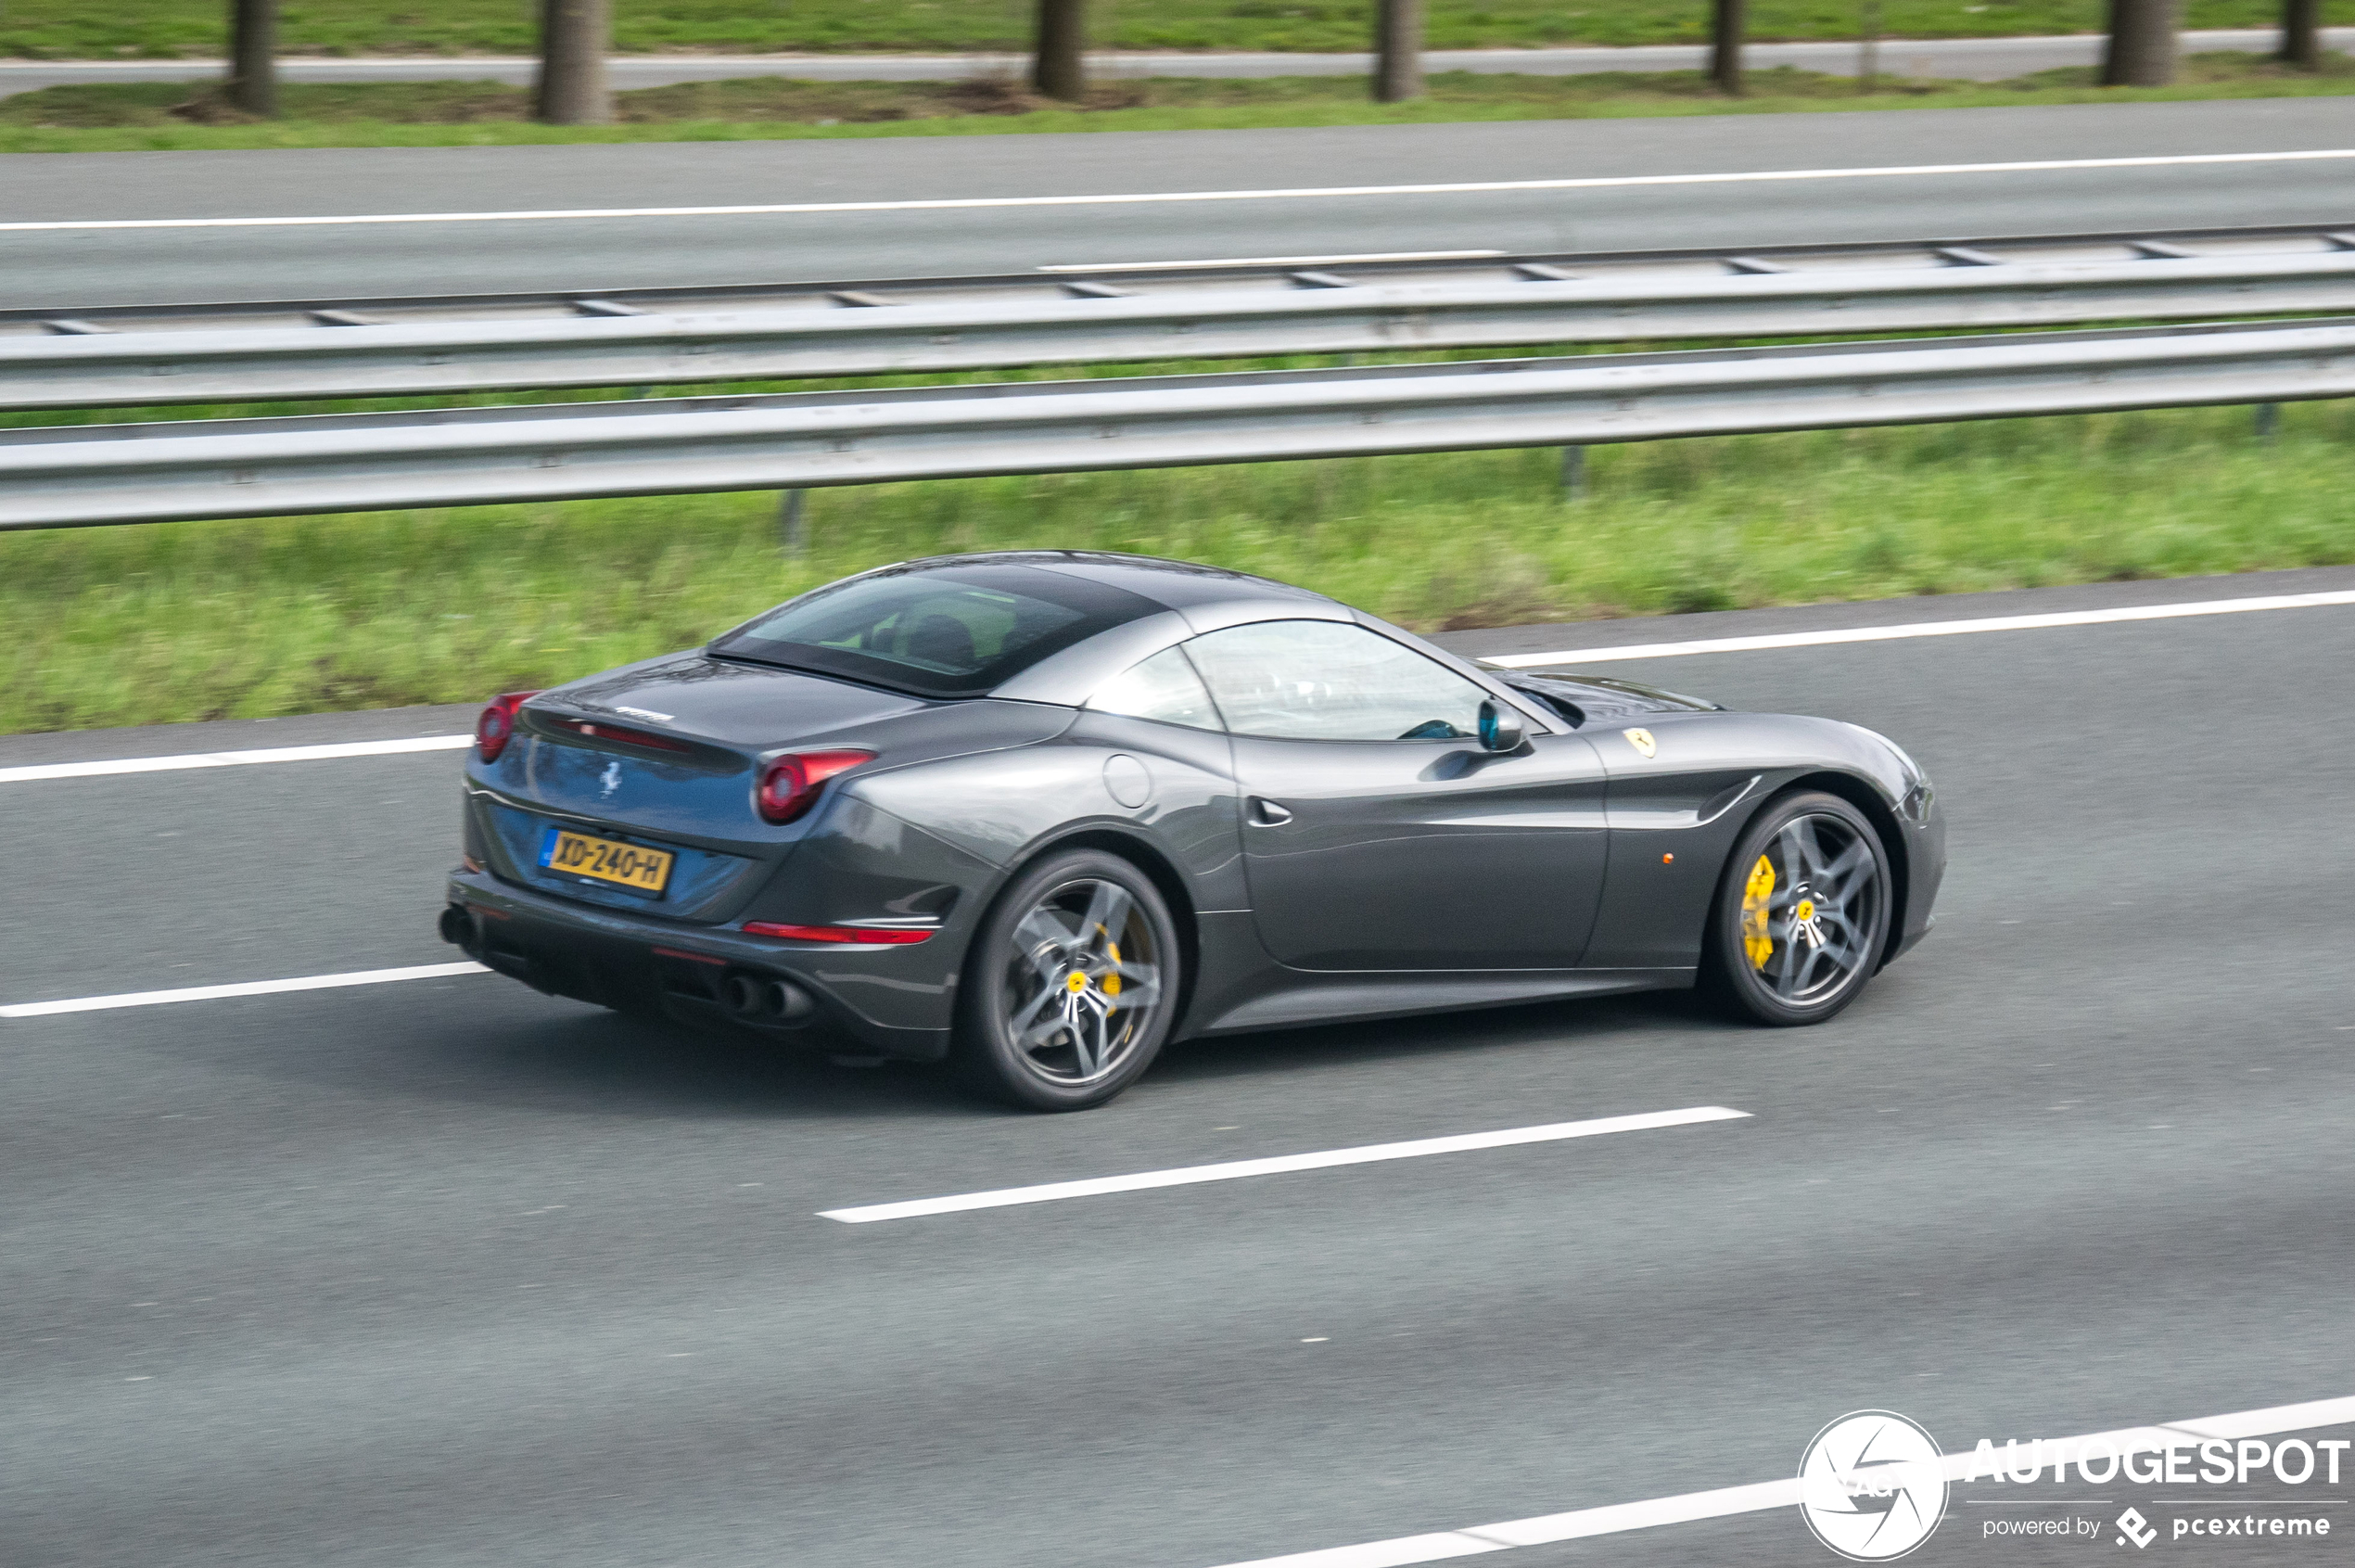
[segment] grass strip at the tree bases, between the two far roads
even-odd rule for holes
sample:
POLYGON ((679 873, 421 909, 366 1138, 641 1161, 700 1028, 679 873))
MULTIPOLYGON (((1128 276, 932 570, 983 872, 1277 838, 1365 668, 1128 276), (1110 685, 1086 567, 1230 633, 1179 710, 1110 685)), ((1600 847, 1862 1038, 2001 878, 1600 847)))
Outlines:
POLYGON ((1356 78, 1147 78, 1102 82, 1088 108, 1046 108, 1008 80, 794 82, 747 78, 619 94, 619 125, 523 120, 520 87, 499 82, 353 82, 283 89, 285 118, 252 122, 212 87, 179 82, 80 85, 0 101, 0 153, 485 146, 560 141, 744 141, 780 137, 958 137, 1081 129, 1258 129, 1276 125, 1415 125, 1439 120, 1564 120, 1856 108, 1992 108, 2266 99, 2355 92, 2355 61, 2284 71, 2256 54, 2190 57, 2174 87, 2096 87, 2091 71, 2042 71, 2011 82, 1882 80, 1813 71, 1754 71, 1726 99, 1693 71, 1599 75, 1444 73, 1413 104, 1368 104, 1356 78))

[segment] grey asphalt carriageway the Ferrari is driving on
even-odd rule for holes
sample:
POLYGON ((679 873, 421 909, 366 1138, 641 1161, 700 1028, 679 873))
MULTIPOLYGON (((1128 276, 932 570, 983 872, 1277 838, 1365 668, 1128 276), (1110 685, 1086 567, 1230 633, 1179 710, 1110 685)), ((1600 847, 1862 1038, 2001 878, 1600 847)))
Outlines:
MULTIPOLYGON (((1253 1036, 1036 1118, 485 975, 0 1022, 0 1556, 1210 1568, 1773 1481, 1868 1406, 1952 1450, 2355 1394, 2350 662, 2331 607, 1594 664, 1882 727, 1938 779, 1938 930, 1806 1031, 1639 998, 1253 1036), (1752 1118, 812 1217, 1705 1104, 1752 1118)), ((452 723, 21 737, 0 768, 452 723)), ((445 958, 455 775, 0 784, 0 1003, 445 958)), ((1995 1516, 1955 1502, 1912 1561, 2068 1556, 1985 1544, 1995 1516)), ((1495 1561, 1832 1559, 1773 1511, 1495 1561)))

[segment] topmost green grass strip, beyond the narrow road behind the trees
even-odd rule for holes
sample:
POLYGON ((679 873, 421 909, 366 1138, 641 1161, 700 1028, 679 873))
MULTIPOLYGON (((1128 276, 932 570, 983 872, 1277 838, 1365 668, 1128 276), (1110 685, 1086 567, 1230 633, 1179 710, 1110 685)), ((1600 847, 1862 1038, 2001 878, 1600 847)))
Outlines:
MULTIPOLYGON (((619 0, 615 47, 664 52, 1022 49, 1031 0, 619 0)), ((221 54, 224 0, 12 0, 0 12, 0 54, 47 59, 221 54)), ((290 54, 528 54, 532 0, 287 0, 290 54)), ((1703 38, 1700 0, 1432 0, 1434 49, 1531 45, 1634 45, 1703 38)), ((2355 0, 2324 0, 2324 21, 2355 21, 2355 0)), ((1886 0, 1891 38, 2089 33, 2101 0, 1886 0)), ((2277 0, 2190 0, 2193 28, 2280 21, 2277 0)), ((1364 49, 1371 0, 1095 0, 1093 42, 1114 49, 1364 49)), ((1752 0, 1754 38, 1853 38, 1858 7, 1825 0, 1752 0)))

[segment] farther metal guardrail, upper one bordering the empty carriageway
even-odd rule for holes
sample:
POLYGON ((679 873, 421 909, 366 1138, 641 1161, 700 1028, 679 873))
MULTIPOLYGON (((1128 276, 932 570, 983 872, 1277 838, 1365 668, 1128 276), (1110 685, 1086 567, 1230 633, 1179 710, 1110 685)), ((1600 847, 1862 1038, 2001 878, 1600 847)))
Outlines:
POLYGON ((596 297, 9 311, 0 313, 0 410, 2296 311, 2355 311, 2355 233, 2049 235, 1745 257, 1458 257, 596 297))

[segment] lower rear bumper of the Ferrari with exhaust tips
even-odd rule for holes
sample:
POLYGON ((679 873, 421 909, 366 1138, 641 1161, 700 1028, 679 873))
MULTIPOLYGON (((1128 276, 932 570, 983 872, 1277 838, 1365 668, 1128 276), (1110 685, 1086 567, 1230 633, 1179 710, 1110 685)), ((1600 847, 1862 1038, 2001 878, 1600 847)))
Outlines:
POLYGON ((780 942, 579 904, 487 871, 452 871, 447 892, 445 939, 553 996, 909 1062, 949 1050, 963 930, 897 946, 780 942))

